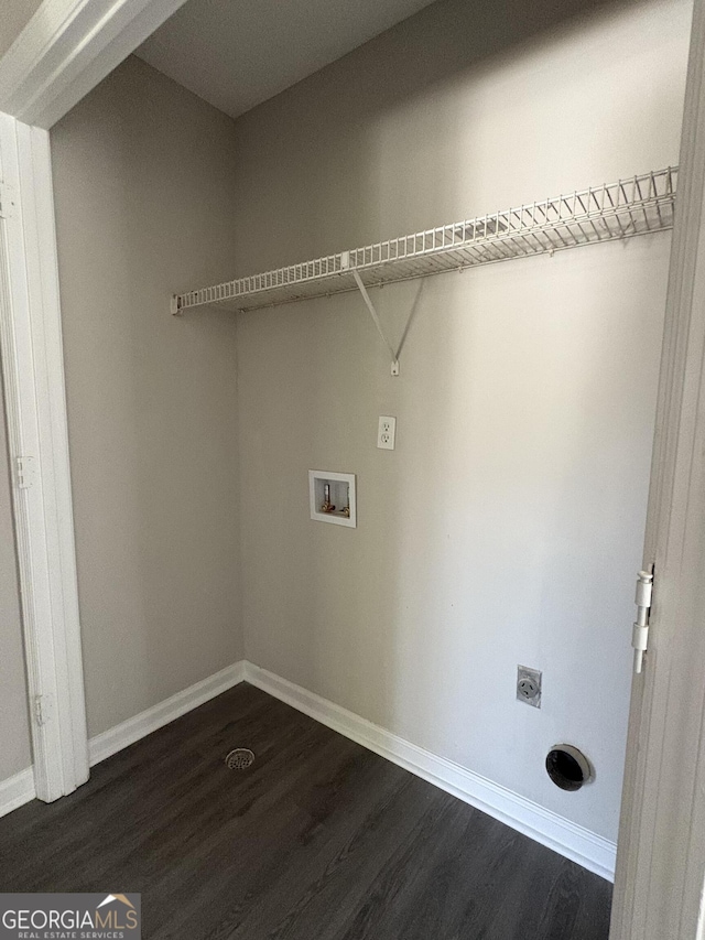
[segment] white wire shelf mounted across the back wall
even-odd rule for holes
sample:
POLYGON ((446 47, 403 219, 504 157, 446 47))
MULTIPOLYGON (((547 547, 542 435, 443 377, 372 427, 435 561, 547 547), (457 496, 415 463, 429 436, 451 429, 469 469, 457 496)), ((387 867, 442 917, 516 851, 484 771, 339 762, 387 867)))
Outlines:
POLYGON ((172 298, 172 313, 210 304, 256 310, 478 264, 553 253, 673 226, 677 166, 251 274, 172 298))

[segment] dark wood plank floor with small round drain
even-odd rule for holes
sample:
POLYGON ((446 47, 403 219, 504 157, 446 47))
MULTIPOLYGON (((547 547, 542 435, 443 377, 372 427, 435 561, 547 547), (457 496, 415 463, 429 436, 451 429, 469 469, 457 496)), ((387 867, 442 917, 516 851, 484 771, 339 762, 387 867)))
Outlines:
POLYGON ((611 896, 249 685, 0 820, 0 890, 141 892, 150 940, 604 940, 611 896))

